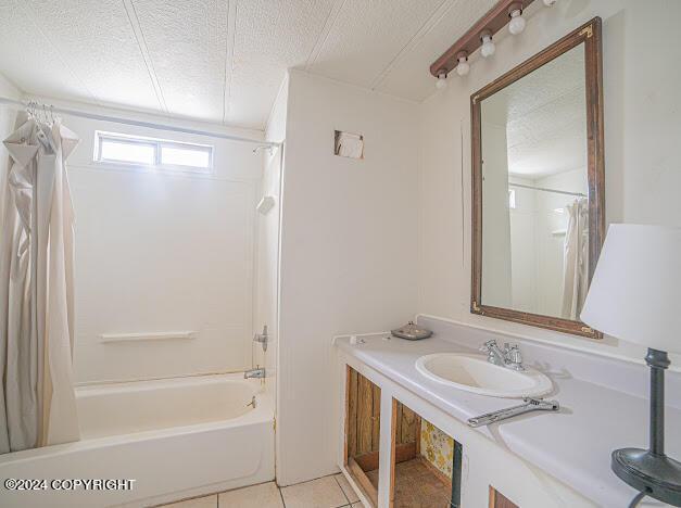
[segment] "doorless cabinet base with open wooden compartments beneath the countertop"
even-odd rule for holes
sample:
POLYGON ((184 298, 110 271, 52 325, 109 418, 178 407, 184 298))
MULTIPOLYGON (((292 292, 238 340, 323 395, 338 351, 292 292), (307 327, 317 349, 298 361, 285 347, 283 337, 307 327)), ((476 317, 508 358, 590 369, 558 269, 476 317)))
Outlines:
POLYGON ((373 367, 344 354, 339 367, 338 466, 368 506, 597 506, 373 367))

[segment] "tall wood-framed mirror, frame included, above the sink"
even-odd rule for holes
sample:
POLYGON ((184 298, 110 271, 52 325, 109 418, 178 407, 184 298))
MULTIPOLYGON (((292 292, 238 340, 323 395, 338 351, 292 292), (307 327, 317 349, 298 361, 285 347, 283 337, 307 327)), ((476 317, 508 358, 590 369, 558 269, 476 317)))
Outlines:
POLYGON ((579 320, 605 236, 601 18, 470 98, 470 312, 601 339, 579 320))

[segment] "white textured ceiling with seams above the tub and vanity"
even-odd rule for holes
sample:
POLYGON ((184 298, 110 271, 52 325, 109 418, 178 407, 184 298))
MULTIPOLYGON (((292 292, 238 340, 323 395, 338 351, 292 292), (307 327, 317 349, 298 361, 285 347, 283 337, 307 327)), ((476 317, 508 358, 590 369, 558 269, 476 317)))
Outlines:
POLYGON ((262 129, 287 68, 420 101, 494 0, 0 0, 25 92, 262 129))

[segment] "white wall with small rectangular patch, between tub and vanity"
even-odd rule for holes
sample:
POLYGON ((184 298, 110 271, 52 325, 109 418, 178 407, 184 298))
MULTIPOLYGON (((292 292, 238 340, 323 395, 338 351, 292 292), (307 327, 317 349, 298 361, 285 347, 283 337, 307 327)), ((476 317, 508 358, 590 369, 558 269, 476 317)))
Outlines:
POLYGON ((292 72, 282 191, 277 480, 337 471, 331 340, 388 330, 417 305, 416 104, 292 72), (333 130, 365 137, 333 155, 333 130))

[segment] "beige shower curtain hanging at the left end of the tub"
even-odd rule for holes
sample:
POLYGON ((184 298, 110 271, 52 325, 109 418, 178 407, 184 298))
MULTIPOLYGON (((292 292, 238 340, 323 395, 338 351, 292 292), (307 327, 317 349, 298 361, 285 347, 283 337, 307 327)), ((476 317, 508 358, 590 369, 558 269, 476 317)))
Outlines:
POLYGON ((0 236, 0 453, 79 439, 73 390, 73 207, 64 163, 78 143, 27 119, 10 153, 0 236))

